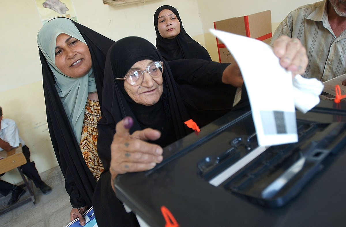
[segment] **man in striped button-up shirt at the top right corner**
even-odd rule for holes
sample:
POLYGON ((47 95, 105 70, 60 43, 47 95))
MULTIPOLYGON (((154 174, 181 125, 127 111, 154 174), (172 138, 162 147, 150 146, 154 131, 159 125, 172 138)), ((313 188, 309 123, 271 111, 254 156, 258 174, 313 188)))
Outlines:
POLYGON ((275 30, 270 45, 281 35, 299 39, 306 48, 304 78, 325 82, 346 73, 346 0, 324 0, 293 10, 275 30))

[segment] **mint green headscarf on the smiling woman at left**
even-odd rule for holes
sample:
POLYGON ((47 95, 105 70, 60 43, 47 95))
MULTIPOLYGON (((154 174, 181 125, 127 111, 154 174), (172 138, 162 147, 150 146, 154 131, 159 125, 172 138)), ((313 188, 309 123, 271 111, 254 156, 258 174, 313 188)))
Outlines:
MULTIPOLYGON (((37 34, 37 44, 46 57, 56 81, 55 87, 69 118, 77 141, 82 135, 84 109, 89 93, 96 92, 93 69, 80 78, 72 78, 62 73, 55 65, 56 37, 61 33, 72 36, 85 43, 77 27, 67 18, 48 21, 37 34)), ((86 43, 85 43, 86 44, 86 43)))

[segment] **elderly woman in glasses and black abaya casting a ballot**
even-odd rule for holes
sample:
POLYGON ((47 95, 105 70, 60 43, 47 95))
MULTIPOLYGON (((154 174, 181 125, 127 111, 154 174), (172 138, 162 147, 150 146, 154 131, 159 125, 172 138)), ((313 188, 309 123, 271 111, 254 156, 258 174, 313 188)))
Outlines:
MULTIPOLYGON (((281 42, 275 50, 285 53, 291 39, 287 37, 281 42)), ((306 55, 301 54, 304 48, 300 48, 303 47, 288 48, 288 54, 293 59, 303 56, 297 62, 305 70, 306 55)), ((124 208, 111 183, 117 174, 149 170, 160 163, 162 147, 193 132, 184 124, 193 110, 215 107, 214 102, 220 97, 224 100, 218 102, 216 112, 233 108, 235 89, 243 83, 238 80, 237 67, 194 59, 189 63, 195 74, 185 74, 179 70, 181 63, 182 60, 167 63, 151 43, 139 37, 121 39, 110 48, 104 72, 103 115, 98 122, 98 152, 104 171, 93 197, 95 217, 102 221, 99 226, 112 226, 121 219, 116 214, 124 208), (203 75, 207 69, 208 73, 203 75), (225 89, 226 93, 210 93, 203 100, 196 100, 186 92, 193 86, 184 87, 184 82, 193 84, 202 93, 210 86, 226 86, 229 92, 225 89)), ((200 127, 217 118, 203 112, 197 117, 192 119, 200 127)))

